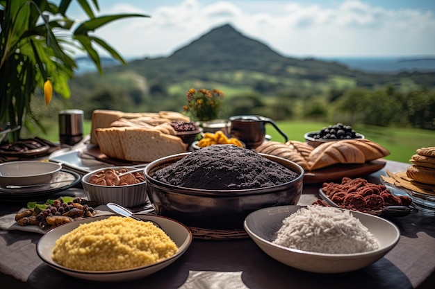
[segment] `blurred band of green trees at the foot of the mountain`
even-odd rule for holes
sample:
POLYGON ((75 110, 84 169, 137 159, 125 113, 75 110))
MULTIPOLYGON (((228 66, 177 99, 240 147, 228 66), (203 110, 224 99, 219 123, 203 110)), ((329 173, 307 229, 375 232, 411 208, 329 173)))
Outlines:
MULTIPOLYGON (((150 89, 152 92, 147 93, 133 85, 125 85, 124 89, 104 85, 98 89, 74 87, 81 90, 72 89, 72 97, 68 100, 55 97, 49 107, 43 105, 42 95, 33 98, 32 114, 40 119, 42 127, 33 124, 35 130, 25 132, 24 137, 26 134, 37 134, 38 130, 44 132, 44 126, 49 130, 57 123, 58 112, 65 108, 79 108, 85 112, 85 119, 90 120, 95 109, 183 112, 183 105, 186 104, 185 94, 171 94, 161 86, 153 87, 150 89)), ((243 114, 259 114, 275 121, 340 121, 350 125, 361 123, 435 130, 435 89, 402 91, 393 85, 387 85, 377 89, 329 89, 327 93, 319 95, 316 95, 315 91, 304 89, 281 91, 272 96, 255 89, 225 95, 219 118, 228 119, 229 116, 243 114)))

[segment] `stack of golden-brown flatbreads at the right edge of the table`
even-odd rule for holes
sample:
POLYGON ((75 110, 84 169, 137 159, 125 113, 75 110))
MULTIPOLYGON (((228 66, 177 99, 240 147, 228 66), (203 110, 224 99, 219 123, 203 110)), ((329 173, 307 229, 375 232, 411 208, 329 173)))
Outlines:
POLYGON ((394 184, 398 188, 425 195, 435 195, 435 147, 419 148, 411 157, 412 165, 405 171, 381 175, 385 182, 394 184))

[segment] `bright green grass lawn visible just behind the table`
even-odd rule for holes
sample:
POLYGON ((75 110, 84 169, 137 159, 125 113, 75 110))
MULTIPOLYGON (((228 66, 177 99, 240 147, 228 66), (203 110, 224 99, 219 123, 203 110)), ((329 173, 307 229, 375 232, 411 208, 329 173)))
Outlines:
MULTIPOLYGON (((285 132, 288 139, 293 141, 304 141, 304 134, 320 130, 332 123, 320 123, 310 121, 277 121, 279 128, 285 132)), ((385 157, 393 161, 409 162, 411 156, 418 148, 435 146, 435 131, 419 130, 416 128, 381 128, 368 125, 354 125, 354 130, 366 136, 366 139, 379 143, 391 152, 385 157)), ((83 128, 85 134, 90 132, 90 121, 85 121, 83 128)), ((270 134, 273 141, 284 141, 281 134, 272 125, 266 125, 266 133, 270 134)), ((58 141, 58 128, 51 130, 46 139, 58 141)))

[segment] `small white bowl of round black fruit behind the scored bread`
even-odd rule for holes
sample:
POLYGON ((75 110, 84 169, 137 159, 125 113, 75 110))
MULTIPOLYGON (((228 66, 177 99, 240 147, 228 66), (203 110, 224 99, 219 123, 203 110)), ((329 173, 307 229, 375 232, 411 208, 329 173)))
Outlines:
POLYGON ((335 125, 328 125, 322 130, 317 132, 307 132, 304 134, 306 143, 310 146, 317 147, 322 143, 330 141, 342 141, 345 139, 364 139, 364 135, 352 128, 351 125, 345 125, 343 123, 336 123, 335 125))

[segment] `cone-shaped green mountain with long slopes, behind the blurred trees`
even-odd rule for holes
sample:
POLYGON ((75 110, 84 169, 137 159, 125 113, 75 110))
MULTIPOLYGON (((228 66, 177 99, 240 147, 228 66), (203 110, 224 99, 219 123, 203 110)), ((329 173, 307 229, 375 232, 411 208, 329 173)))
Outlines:
MULTIPOLYGON (((400 73, 391 76, 363 73, 336 62, 313 58, 286 58, 267 45, 242 35, 229 24, 214 28, 167 58, 136 60, 130 62, 128 67, 112 69, 133 70, 149 80, 162 78, 169 85, 191 79, 222 82, 225 85, 254 85, 258 80, 263 80, 291 87, 290 80, 318 82, 337 77, 348 78, 355 85, 366 87, 397 82, 401 78, 411 78, 416 85, 435 85, 435 73, 400 73), (227 73, 234 77, 229 78, 227 73), (240 73, 245 76, 243 79, 236 77, 240 73), (413 77, 413 74, 418 77, 413 77), (432 77, 422 79, 422 74, 432 77)), ((108 69, 108 73, 112 69, 108 69)))

